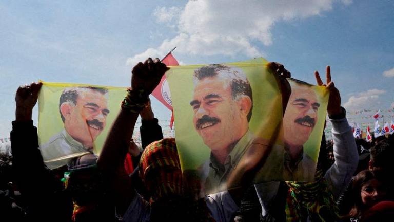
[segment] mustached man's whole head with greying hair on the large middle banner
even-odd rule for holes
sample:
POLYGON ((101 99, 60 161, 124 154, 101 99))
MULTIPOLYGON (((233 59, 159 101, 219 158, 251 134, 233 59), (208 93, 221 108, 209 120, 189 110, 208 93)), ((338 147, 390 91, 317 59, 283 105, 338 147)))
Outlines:
POLYGON ((196 131, 211 150, 222 150, 248 130, 252 115, 252 89, 240 68, 207 65, 194 71, 196 131))

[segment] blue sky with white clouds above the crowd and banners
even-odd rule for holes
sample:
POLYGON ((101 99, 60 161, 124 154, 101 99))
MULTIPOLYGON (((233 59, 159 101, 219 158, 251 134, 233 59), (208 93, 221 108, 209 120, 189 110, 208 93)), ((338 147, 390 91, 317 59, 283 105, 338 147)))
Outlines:
MULTIPOLYGON (((128 86, 133 64, 174 46, 182 64, 262 56, 310 83, 331 65, 348 110, 392 109, 393 11, 392 1, 366 0, 1 1, 0 137, 19 85, 128 86)), ((160 103, 153 108, 169 119, 160 103)))

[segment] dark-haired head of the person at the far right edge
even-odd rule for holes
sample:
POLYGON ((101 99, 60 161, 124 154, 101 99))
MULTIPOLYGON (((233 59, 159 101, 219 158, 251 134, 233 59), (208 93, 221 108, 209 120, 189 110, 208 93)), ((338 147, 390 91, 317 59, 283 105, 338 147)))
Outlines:
POLYGON ((369 160, 369 170, 383 170, 392 172, 394 170, 394 147, 388 143, 387 140, 383 140, 377 143, 371 148, 371 159, 369 160))

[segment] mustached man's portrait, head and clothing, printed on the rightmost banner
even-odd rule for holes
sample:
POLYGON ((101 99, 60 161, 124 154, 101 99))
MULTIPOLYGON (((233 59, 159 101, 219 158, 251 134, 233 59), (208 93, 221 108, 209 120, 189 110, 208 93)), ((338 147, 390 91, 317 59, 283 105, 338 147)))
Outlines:
POLYGON ((316 171, 316 162, 304 152, 304 144, 318 122, 320 103, 312 85, 293 79, 289 79, 289 83, 291 95, 283 117, 284 177, 291 181, 310 181, 316 171))

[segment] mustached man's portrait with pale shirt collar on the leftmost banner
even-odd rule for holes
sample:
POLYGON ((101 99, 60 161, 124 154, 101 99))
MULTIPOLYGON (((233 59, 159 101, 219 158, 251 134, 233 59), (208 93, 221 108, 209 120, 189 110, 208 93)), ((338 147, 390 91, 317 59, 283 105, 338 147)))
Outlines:
POLYGON ((68 164, 73 157, 93 151, 94 140, 106 126, 108 90, 99 87, 72 87, 59 100, 64 129, 40 146, 48 168, 68 164))

